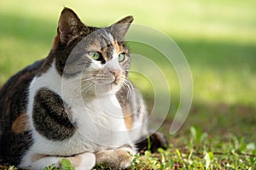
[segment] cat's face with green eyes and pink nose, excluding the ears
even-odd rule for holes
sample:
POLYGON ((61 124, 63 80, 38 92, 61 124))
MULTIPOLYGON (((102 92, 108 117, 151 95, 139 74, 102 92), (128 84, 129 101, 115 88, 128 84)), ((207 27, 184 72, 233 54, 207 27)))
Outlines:
POLYGON ((85 37, 82 44, 86 62, 81 78, 83 94, 117 92, 130 69, 131 59, 125 42, 116 40, 109 29, 101 29, 85 37))

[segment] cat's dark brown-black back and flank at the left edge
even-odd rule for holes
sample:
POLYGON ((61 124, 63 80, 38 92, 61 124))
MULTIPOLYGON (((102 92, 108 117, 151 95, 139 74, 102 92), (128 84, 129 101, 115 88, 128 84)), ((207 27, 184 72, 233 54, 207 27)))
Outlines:
POLYGON ((19 162, 20 156, 31 143, 26 116, 27 88, 43 63, 44 59, 27 66, 0 88, 0 162, 2 163, 19 162))

